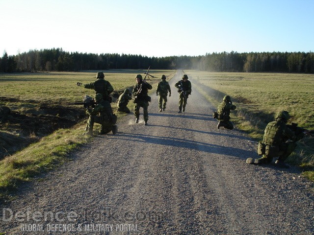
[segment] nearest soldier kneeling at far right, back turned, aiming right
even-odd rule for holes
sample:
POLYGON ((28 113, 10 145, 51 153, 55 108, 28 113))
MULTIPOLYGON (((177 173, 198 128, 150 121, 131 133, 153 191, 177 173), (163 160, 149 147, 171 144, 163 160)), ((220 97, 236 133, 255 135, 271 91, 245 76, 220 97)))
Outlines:
POLYGON ((289 118, 289 113, 282 110, 276 115, 275 121, 267 124, 263 140, 259 141, 258 144, 258 154, 262 157, 259 159, 248 158, 246 160, 247 164, 269 164, 274 157, 279 157, 275 164, 281 167, 289 167, 284 162, 295 149, 295 141, 301 140, 307 134, 303 130, 294 133, 287 125, 289 118))

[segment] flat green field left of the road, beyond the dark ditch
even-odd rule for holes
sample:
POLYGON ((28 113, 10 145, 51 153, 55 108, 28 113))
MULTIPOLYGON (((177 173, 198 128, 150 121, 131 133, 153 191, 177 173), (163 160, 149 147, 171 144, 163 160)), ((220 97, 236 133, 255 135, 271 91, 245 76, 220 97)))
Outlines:
MULTIPOLYGON (((109 81, 115 91, 133 87, 135 76, 142 70, 110 70, 104 71, 105 80, 109 81)), ((167 77, 174 75, 175 71, 152 70, 151 83, 160 80, 162 74, 167 77)), ((94 90, 77 86, 77 82, 90 83, 96 80, 95 72, 41 72, 41 73, 13 73, 0 74, 0 94, 11 98, 23 98, 37 101, 70 101, 81 100, 87 94, 94 95, 94 90)))

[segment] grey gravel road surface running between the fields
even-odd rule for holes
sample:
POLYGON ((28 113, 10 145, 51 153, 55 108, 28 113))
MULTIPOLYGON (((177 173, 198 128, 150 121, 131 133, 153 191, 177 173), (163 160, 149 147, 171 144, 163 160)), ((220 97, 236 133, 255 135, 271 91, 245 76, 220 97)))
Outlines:
POLYGON ((8 234, 314 234, 313 183, 297 167, 245 163, 256 142, 235 127, 217 130, 215 107, 193 88, 186 112, 178 93, 149 125, 119 120, 118 134, 97 136, 73 161, 27 183, 1 205, 8 234), (38 230, 38 231, 35 231, 38 230))

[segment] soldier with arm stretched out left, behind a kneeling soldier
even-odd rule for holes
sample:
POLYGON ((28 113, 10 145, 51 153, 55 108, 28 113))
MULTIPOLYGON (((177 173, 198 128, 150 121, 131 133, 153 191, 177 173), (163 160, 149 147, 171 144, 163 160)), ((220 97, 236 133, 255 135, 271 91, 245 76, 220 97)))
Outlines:
POLYGON ((94 82, 88 84, 82 84, 78 82, 77 85, 83 86, 87 89, 94 89, 95 94, 102 94, 103 99, 111 103, 111 97, 109 96, 109 94, 113 92, 113 87, 111 86, 110 82, 104 79, 105 74, 103 72, 97 72, 96 78, 97 80, 94 82))

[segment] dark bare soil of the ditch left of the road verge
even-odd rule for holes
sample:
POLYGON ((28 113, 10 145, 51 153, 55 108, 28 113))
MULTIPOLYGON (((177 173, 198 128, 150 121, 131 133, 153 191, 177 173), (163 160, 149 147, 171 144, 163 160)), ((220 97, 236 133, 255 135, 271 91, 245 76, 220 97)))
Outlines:
MULTIPOLYGON (((22 100, 0 97, 0 103, 2 102, 15 103, 22 100)), ((8 115, 0 117, 0 159, 12 155, 59 128, 69 128, 85 118, 84 110, 79 106, 34 100, 27 100, 27 103, 32 104, 32 108, 23 114, 11 111, 8 115)))

